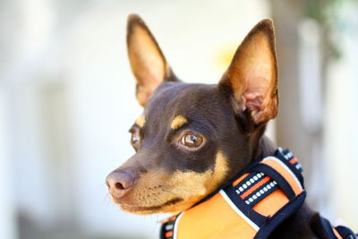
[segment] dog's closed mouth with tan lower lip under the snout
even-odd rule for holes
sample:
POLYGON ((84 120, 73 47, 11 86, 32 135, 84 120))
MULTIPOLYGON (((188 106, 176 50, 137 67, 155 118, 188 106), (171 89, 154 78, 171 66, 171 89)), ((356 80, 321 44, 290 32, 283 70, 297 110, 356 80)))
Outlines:
POLYGON ((124 209, 125 211, 134 213, 134 214, 141 214, 141 215, 146 215, 146 214, 153 214, 153 213, 158 213, 158 212, 166 212, 166 209, 174 206, 175 204, 182 202, 183 199, 182 198, 174 198, 170 201, 166 201, 165 203, 162 203, 160 205, 154 205, 154 206, 141 206, 141 205, 135 205, 135 204, 127 204, 124 202, 120 202, 115 200, 115 198, 113 198, 113 201, 115 202, 115 204, 119 205, 122 209, 124 209))

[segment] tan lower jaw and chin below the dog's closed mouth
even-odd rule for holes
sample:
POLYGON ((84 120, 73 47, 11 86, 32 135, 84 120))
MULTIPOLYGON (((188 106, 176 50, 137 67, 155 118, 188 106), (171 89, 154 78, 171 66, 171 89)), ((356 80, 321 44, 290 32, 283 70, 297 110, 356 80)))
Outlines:
POLYGON ((181 198, 175 198, 165 203, 153 205, 153 206, 141 206, 140 204, 127 204, 113 199, 115 204, 117 204, 121 209, 126 212, 137 214, 137 215, 149 215, 155 213, 171 213, 177 214, 183 209, 177 209, 177 206, 183 202, 181 198))

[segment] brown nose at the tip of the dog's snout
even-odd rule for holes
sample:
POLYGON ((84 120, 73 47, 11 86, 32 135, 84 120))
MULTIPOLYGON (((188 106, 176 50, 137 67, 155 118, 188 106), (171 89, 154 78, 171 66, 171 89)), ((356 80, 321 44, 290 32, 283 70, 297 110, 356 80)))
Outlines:
POLYGON ((107 175, 106 184, 113 196, 121 198, 132 188, 135 180, 136 177, 131 172, 113 171, 107 175))

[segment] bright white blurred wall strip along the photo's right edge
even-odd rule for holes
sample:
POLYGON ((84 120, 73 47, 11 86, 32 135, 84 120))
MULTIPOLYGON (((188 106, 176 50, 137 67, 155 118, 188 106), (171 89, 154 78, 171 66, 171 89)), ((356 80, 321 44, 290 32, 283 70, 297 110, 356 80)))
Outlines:
POLYGON ((328 68, 325 154, 328 158, 329 207, 335 218, 358 228, 358 3, 343 4, 337 40, 341 58, 328 68))

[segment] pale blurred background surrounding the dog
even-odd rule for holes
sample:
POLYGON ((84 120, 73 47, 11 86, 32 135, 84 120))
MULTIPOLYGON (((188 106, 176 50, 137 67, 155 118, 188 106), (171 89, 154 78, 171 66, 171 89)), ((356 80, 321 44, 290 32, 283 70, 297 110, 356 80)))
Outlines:
POLYGON ((268 134, 303 163, 309 204, 358 230, 358 1, 1 0, 0 238, 158 238, 163 216, 122 212, 105 185, 141 114, 129 13, 183 81, 206 83, 272 18, 280 111, 268 134))

